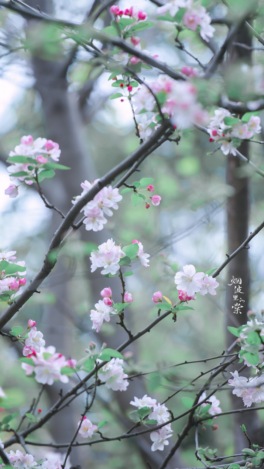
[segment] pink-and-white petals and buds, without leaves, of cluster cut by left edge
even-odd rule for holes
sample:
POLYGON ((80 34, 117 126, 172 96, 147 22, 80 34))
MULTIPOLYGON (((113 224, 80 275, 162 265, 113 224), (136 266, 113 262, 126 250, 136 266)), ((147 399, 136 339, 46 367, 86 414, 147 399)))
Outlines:
MULTIPOLYGON (((16 254, 16 251, 0 252, 0 262, 7 261, 9 264, 17 265, 17 271, 14 272, 12 276, 6 274, 5 269, 0 270, 0 295, 4 292, 8 292, 9 294, 10 292, 14 292, 14 294, 10 296, 11 301, 14 301, 20 287, 23 287, 27 283, 26 279, 17 276, 18 272, 20 272, 19 267, 24 267, 25 261, 12 262, 16 259, 14 254, 16 254)), ((24 271, 23 274, 25 273, 24 271)))

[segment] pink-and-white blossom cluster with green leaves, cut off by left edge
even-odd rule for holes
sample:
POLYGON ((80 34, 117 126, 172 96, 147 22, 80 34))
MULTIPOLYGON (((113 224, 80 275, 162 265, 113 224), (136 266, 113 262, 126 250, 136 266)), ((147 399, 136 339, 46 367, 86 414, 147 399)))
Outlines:
POLYGON ((26 279, 19 272, 26 273, 25 261, 12 262, 16 251, 0 252, 0 300, 11 304, 17 297, 26 279))

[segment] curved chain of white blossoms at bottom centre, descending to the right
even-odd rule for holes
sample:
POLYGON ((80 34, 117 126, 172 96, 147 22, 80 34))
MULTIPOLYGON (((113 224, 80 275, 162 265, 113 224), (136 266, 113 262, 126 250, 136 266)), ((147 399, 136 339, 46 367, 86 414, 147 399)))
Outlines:
MULTIPOLYGON (((156 399, 152 399, 151 397, 147 396, 147 394, 145 394, 145 396, 143 396, 141 399, 135 396, 134 401, 130 401, 130 404, 137 407, 138 409, 152 409, 152 412, 148 414, 148 419, 156 420, 157 424, 164 424, 170 420, 170 413, 165 404, 157 404, 156 399)), ((167 438, 170 438, 171 436, 171 424, 164 425, 158 431, 153 431, 150 433, 150 439, 153 441, 151 451, 156 451, 158 449, 163 451, 164 446, 169 444, 167 438)))

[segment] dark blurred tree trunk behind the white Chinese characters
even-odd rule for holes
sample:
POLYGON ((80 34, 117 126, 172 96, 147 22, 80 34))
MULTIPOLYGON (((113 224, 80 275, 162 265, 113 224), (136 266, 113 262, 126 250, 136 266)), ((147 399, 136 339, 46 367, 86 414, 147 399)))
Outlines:
MULTIPOLYGON (((245 26, 237 33, 233 39, 234 42, 240 42, 251 46, 251 36, 245 26)), ((228 51, 227 66, 233 67, 235 64, 243 63, 252 65, 251 51, 245 48, 231 45, 228 51)), ((239 77, 238 77, 239 79, 239 77)), ((243 100, 243 97, 241 97, 243 100)), ((230 109, 232 112, 232 109, 230 109)), ((239 151, 246 157, 249 157, 249 144, 243 142, 239 151)), ((226 204, 227 211, 227 242, 228 254, 236 250, 248 236, 248 220, 250 214, 250 187, 248 177, 241 177, 238 173, 241 161, 237 156, 228 155, 226 166, 226 182, 233 187, 232 197, 228 197, 226 204)), ((239 327, 247 323, 247 311, 249 310, 249 291, 250 291, 250 267, 248 258, 248 249, 242 250, 229 264, 227 274, 227 284, 232 283, 232 279, 241 279, 241 292, 237 293, 237 299, 234 299, 239 283, 226 285, 226 326, 239 327), (235 289, 236 287, 236 289, 235 289), (241 301, 242 299, 242 301, 241 301), (235 304, 241 304, 240 311, 235 312, 235 304)), ((229 347, 235 337, 227 331, 227 347, 229 347)), ((229 369, 234 371, 238 369, 237 363, 229 369)), ((242 376, 250 376, 250 368, 241 372, 242 376)), ((243 408, 244 404, 240 397, 231 395, 232 408, 243 408)), ((237 413, 233 415, 234 424, 234 452, 240 453, 243 447, 247 446, 247 441, 243 435, 240 425, 244 424, 252 443, 262 445, 261 424, 256 412, 237 413)))

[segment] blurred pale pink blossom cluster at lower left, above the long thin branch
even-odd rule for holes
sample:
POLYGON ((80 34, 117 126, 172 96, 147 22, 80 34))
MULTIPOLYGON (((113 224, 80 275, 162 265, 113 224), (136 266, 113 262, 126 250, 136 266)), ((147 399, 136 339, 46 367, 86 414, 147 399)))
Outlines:
POLYGON ((33 361, 34 365, 29 363, 22 363, 21 366, 26 372, 27 376, 35 373, 35 379, 38 383, 52 385, 54 380, 59 380, 62 383, 68 383, 69 377, 61 373, 62 368, 69 367, 76 364, 73 359, 66 360, 65 356, 56 353, 53 345, 49 347, 40 347, 39 352, 35 352, 31 348, 31 355, 28 356, 33 361))

